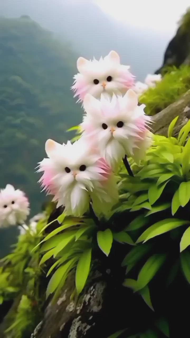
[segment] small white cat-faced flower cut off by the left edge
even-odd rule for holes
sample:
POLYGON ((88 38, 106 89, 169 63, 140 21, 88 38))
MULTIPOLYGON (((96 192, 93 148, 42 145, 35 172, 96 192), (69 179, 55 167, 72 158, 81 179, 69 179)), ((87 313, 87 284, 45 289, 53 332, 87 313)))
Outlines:
POLYGON ((0 190, 0 227, 22 224, 30 213, 24 192, 7 184, 0 190))

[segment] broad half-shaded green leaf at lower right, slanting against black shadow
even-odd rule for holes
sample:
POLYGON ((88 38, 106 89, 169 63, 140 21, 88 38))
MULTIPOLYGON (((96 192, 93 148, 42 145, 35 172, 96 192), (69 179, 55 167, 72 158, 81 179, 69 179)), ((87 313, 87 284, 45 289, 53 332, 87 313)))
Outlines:
POLYGON ((136 291, 144 288, 151 281, 164 263, 165 257, 165 254, 156 254, 148 258, 139 272, 136 291))

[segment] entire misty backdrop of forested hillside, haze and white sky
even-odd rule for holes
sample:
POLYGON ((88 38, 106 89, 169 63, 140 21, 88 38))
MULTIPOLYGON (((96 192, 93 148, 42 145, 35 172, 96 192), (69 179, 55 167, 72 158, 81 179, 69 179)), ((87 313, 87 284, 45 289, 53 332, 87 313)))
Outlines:
POLYGON ((0 187, 24 190, 31 216, 45 194, 35 173, 48 138, 81 121, 70 87, 79 56, 116 50, 137 80, 162 64, 189 1, 0 0, 0 187))

